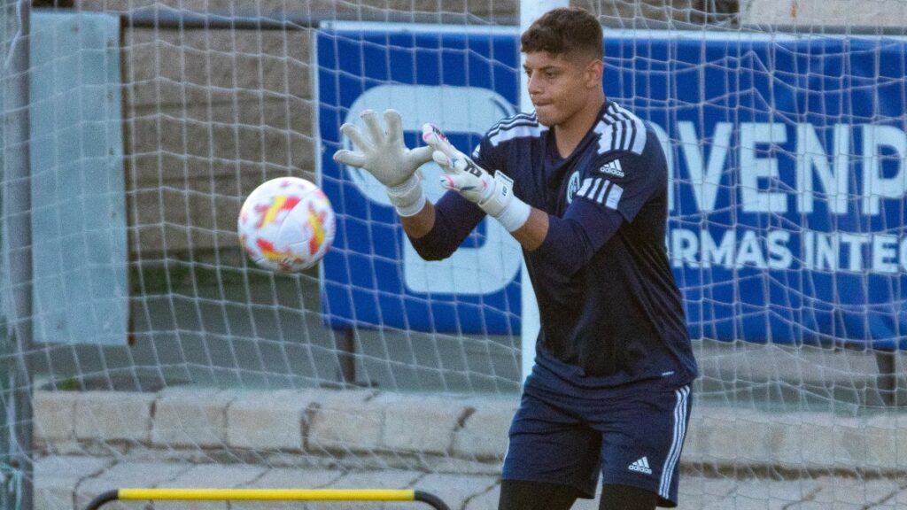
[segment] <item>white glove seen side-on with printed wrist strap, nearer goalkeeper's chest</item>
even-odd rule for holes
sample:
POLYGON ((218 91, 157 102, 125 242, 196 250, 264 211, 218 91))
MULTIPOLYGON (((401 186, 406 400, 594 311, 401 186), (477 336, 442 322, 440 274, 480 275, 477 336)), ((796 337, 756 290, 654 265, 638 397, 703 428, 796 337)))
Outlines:
POLYGON ((513 181, 501 171, 494 177, 478 166, 466 154, 458 151, 437 126, 422 126, 422 139, 434 149, 432 158, 441 165, 444 189, 458 191, 463 198, 475 202, 483 211, 500 221, 508 232, 517 230, 529 220, 532 208, 513 195, 513 181))

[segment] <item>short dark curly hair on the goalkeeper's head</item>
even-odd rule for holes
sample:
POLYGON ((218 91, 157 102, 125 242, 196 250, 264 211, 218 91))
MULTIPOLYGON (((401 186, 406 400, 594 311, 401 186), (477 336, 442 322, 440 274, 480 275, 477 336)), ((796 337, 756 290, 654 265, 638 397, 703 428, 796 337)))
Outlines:
POLYGON ((541 15, 522 33, 520 51, 581 54, 602 59, 601 39, 599 20, 589 11, 580 7, 559 7, 541 15))

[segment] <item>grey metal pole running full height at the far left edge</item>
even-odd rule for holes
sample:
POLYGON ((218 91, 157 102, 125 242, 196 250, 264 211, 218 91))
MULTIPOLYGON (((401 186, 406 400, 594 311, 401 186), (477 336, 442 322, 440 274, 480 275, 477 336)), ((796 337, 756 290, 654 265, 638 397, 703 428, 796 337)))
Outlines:
POLYGON ((4 0, 5 54, 3 69, 3 196, 0 203, 4 268, 8 286, 3 293, 5 320, 14 351, 6 374, 11 402, 6 403, 9 428, 9 466, 21 480, 18 500, 23 510, 33 507, 32 374, 28 357, 32 345, 32 229, 31 164, 29 158, 29 0, 4 0), (11 425, 11 427, 10 427, 11 425))

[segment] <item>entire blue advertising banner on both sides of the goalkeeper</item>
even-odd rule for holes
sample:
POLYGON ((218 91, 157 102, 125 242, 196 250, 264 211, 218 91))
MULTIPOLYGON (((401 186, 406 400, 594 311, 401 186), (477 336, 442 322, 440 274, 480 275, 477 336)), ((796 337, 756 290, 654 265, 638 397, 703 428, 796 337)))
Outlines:
MULTIPOLYGON (((452 124, 455 142, 473 147, 518 103, 516 37, 386 25, 318 34, 322 183, 341 217, 324 264, 333 324, 519 330, 517 270, 502 261, 505 276, 477 279, 488 289, 462 291, 453 273, 409 269, 380 187, 330 160, 340 124, 366 104, 447 128, 424 111, 441 102, 441 113, 474 116, 452 124)), ((907 348, 905 50, 891 38, 606 31, 606 93, 648 120, 668 153, 666 245, 693 338, 907 348)), ((519 259, 494 227, 484 222, 466 247, 483 264, 505 245, 519 259)))

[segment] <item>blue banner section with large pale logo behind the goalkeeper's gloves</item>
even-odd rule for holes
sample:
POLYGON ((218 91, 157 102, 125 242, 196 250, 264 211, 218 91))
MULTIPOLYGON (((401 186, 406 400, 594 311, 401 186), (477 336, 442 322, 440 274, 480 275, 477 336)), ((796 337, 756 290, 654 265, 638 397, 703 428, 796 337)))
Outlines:
MULTIPOLYGON (((409 147, 422 125, 444 127, 472 148, 493 123, 516 112, 519 86, 513 30, 357 24, 317 33, 320 185, 337 212, 334 248, 322 262, 322 309, 335 328, 349 324, 449 333, 520 331, 519 245, 484 220, 446 260, 414 251, 382 186, 367 172, 332 160, 343 123, 359 113, 398 111, 409 147)), ((443 194, 440 168, 423 166, 429 200, 443 194)))

